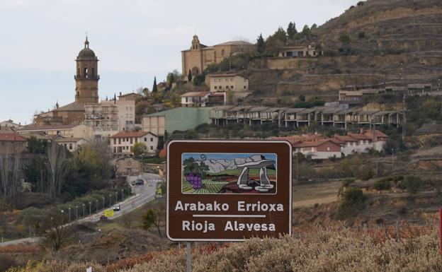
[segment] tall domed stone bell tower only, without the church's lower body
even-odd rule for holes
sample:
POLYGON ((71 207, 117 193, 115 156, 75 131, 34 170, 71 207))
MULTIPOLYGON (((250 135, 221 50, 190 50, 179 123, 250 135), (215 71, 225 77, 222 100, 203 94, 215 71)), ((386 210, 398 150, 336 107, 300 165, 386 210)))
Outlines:
POLYGON ((75 78, 75 102, 98 103, 98 59, 89 48, 86 37, 84 49, 77 56, 77 74, 75 78))

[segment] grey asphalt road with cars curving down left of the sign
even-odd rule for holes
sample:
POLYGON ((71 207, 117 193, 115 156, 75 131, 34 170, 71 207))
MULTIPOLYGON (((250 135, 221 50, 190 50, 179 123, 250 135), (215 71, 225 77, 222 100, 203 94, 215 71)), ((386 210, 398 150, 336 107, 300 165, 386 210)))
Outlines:
MULTIPOLYGON (((139 208, 145 205, 147 202, 155 199, 155 194, 157 192, 157 183, 162 182, 162 177, 156 174, 145 173, 142 175, 141 179, 145 181, 145 184, 132 186, 132 190, 135 193, 135 196, 131 196, 130 198, 120 202, 120 211, 115 211, 113 217, 109 218, 110 220, 119 218, 121 215, 129 213, 130 211, 135 210, 136 208, 139 208)), ((100 220, 100 215, 102 214, 103 211, 90 217, 82 218, 78 220, 77 223, 97 222, 98 220, 100 220)), ((18 240, 11 240, 8 242, 0 242, 0 247, 6 247, 12 244, 34 243, 38 242, 38 240, 40 240, 40 237, 29 237, 18 240)))

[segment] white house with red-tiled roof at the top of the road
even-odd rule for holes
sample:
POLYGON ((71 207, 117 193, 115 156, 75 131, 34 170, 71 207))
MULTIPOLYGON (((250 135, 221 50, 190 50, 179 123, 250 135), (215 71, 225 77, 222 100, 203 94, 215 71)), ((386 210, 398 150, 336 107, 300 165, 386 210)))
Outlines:
POLYGON ((146 131, 120 131, 111 136, 111 148, 115 156, 132 154, 132 149, 136 143, 146 146, 146 153, 157 152, 158 136, 146 131))

